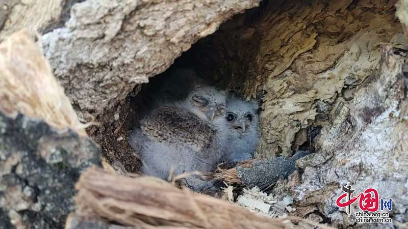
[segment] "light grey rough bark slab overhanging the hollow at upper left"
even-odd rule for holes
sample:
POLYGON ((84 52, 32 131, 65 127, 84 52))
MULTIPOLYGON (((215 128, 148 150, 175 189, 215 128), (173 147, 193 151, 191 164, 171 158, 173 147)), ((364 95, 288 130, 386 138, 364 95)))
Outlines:
POLYGON ((259 0, 100 1, 72 6, 42 36, 45 56, 80 118, 102 115, 166 70, 198 39, 259 0))

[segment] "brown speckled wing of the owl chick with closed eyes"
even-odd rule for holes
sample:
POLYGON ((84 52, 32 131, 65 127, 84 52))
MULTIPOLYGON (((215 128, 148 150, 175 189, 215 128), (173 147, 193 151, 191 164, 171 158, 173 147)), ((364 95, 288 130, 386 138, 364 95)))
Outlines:
POLYGON ((207 120, 179 107, 161 107, 153 110, 140 123, 143 132, 152 140, 175 146, 191 147, 202 152, 210 147, 215 130, 207 120))

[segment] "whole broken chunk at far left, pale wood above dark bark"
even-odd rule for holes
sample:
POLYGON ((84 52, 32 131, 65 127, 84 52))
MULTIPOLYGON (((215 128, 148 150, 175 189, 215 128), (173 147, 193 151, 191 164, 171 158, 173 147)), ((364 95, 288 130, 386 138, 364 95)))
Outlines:
POLYGON ((0 44, 0 228, 62 228, 99 151, 34 40, 0 44))

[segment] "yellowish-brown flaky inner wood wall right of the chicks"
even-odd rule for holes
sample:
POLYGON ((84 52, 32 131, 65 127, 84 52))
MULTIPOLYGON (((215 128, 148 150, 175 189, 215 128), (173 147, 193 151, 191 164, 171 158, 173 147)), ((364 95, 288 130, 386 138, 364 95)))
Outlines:
POLYGON ((258 157, 290 155, 309 140, 308 126, 328 124, 326 115, 344 88, 355 87, 373 71, 378 45, 400 32, 395 2, 376 2, 285 4, 260 22, 262 89, 267 94, 258 157))

